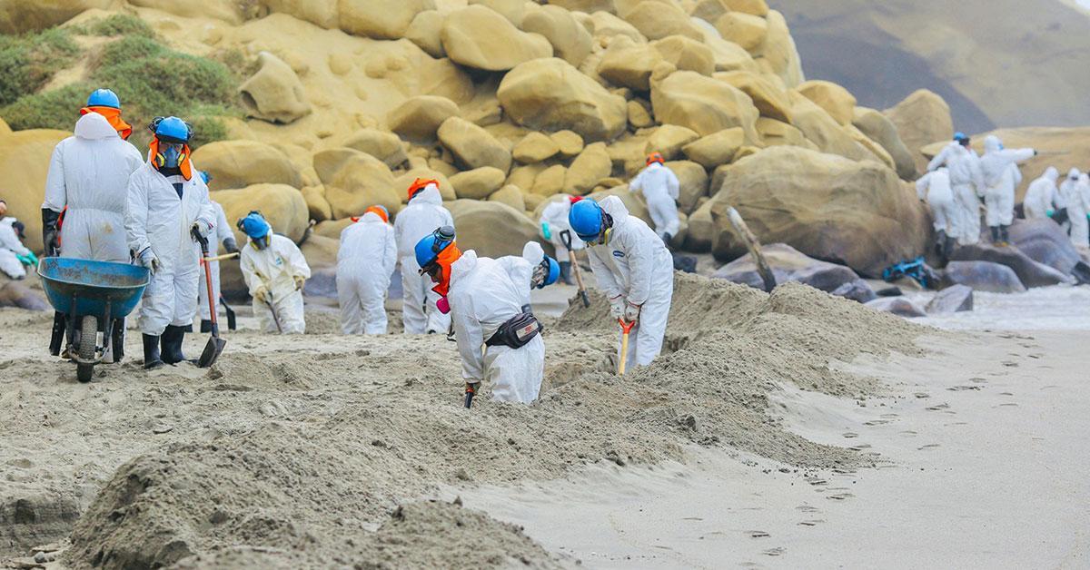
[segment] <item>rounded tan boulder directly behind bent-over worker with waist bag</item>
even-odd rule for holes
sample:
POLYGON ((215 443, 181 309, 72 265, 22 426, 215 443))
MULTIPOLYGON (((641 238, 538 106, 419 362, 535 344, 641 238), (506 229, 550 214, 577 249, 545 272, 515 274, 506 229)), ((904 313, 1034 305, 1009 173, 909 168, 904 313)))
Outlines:
MULTIPOLYGON (((455 217, 462 251, 474 250, 477 255, 493 258, 522 255, 526 242, 540 241, 537 225, 502 202, 456 199, 446 206, 455 217)), ((552 245, 544 245, 546 251, 552 250, 552 245)))

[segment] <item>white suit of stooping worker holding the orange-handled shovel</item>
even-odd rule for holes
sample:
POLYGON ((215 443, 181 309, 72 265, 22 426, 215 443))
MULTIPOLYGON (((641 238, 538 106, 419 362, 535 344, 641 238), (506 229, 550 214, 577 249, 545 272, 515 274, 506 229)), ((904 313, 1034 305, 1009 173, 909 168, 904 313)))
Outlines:
POLYGON ((613 231, 608 243, 588 248, 591 269, 606 296, 620 295, 641 306, 629 338, 626 367, 646 366, 663 348, 674 296, 674 259, 655 232, 628 214, 619 197, 607 196, 600 205, 613 217, 613 231))

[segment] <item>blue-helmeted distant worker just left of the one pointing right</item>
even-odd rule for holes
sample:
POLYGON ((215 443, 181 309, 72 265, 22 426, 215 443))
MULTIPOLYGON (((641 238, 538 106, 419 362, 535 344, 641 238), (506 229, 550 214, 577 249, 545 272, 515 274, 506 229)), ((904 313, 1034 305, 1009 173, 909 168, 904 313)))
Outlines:
POLYGON ((959 235, 957 242, 971 245, 980 242, 980 198, 984 195, 984 174, 980 168, 980 157, 969 147, 969 137, 955 133, 954 142, 928 163, 932 171, 946 165, 950 187, 958 207, 959 235))

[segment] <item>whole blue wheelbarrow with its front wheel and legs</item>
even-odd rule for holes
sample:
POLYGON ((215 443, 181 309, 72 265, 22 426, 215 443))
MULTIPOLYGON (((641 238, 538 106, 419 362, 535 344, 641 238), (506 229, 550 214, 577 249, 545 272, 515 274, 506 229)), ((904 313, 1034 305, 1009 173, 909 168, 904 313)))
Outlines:
MULTIPOLYGON (((135 265, 44 257, 38 262, 38 276, 49 303, 58 313, 55 322, 57 344, 57 326, 63 322, 63 336, 76 365, 76 378, 90 381, 95 364, 102 361, 110 343, 122 342, 121 319, 136 307, 150 274, 135 265), (98 332, 102 333, 101 348, 97 345, 98 332)), ((121 348, 116 347, 114 353, 120 354, 121 348)))

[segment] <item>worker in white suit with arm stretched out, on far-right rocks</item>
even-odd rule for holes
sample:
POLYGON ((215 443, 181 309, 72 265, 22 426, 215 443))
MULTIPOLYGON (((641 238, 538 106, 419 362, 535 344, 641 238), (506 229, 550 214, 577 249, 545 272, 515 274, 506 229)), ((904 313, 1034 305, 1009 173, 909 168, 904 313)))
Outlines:
POLYGON ((995 135, 984 138, 984 156, 980 169, 984 175, 984 217, 992 234, 992 244, 1006 246, 1010 242, 1010 223, 1015 217, 1015 189, 1021 181, 1018 162, 1037 156, 1032 148, 1003 148, 995 135))

